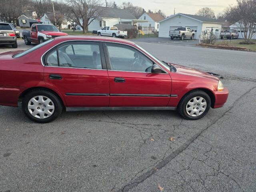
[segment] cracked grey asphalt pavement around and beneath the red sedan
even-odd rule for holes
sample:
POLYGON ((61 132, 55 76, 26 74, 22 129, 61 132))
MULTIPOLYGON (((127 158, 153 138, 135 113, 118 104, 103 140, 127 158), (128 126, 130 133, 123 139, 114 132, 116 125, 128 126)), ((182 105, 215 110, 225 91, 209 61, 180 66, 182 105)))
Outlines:
POLYGON ((196 121, 174 111, 98 111, 48 124, 0 106, 0 192, 256 191, 256 53, 137 43, 219 74, 227 103, 196 121))

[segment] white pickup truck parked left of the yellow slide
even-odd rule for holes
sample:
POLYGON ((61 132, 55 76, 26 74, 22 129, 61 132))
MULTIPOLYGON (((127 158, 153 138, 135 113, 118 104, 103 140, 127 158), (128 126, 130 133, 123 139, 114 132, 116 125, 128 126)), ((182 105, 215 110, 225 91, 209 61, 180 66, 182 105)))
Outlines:
POLYGON ((127 36, 127 31, 120 31, 117 27, 106 26, 101 30, 98 30, 97 35, 125 38, 127 36))

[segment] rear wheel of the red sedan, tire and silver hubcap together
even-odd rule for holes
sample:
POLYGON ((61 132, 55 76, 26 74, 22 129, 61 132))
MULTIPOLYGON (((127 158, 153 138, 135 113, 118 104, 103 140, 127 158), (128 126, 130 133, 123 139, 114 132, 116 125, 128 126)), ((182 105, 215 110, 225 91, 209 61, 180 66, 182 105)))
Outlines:
POLYGON ((58 96, 46 90, 34 90, 24 96, 22 109, 31 120, 48 123, 62 112, 62 103, 58 96))

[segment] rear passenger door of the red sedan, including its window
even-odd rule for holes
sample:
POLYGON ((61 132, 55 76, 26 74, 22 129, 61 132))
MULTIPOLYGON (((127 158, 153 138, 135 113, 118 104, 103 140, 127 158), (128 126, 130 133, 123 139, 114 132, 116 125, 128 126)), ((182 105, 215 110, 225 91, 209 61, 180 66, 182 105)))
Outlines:
POLYGON ((108 72, 99 42, 66 42, 44 59, 44 81, 62 94, 68 107, 107 107, 108 72))

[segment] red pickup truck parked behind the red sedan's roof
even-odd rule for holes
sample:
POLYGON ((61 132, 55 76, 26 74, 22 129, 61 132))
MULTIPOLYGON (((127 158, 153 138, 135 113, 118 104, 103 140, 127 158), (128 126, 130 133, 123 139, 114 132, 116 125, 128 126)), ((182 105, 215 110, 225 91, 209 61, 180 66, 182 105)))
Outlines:
POLYGON ((68 34, 60 32, 54 25, 35 23, 32 24, 31 30, 24 30, 22 32, 22 39, 24 39, 26 45, 30 45, 31 42, 39 44, 64 35, 68 34))

